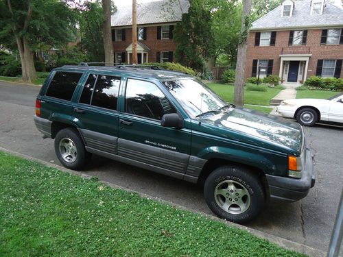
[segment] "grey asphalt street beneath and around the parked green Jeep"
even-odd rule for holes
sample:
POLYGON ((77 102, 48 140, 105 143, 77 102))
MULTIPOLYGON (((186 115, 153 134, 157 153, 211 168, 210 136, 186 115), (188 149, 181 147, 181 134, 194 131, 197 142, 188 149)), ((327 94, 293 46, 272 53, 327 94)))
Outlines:
MULTIPOLYGON (((60 165, 54 140, 43 139, 34 125, 34 101, 40 88, 0 82, 0 147, 60 165)), ((247 225, 290 241, 327 251, 342 191, 343 127, 305 127, 315 156, 316 186, 296 203, 272 201, 247 225)), ((211 215, 202 188, 151 171, 93 156, 81 171, 100 180, 211 215)), ((341 249, 342 254, 342 249, 341 249)))

